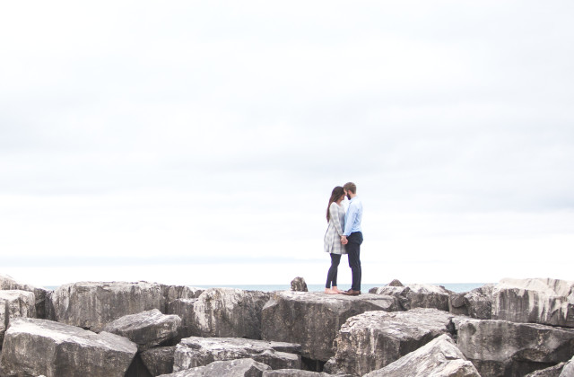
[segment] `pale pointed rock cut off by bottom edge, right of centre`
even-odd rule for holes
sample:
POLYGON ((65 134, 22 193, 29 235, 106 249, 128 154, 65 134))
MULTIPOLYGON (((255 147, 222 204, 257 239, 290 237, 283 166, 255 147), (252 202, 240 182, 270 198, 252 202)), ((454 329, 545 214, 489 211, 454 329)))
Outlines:
POLYGON ((448 335, 441 335, 365 377, 481 377, 448 335))

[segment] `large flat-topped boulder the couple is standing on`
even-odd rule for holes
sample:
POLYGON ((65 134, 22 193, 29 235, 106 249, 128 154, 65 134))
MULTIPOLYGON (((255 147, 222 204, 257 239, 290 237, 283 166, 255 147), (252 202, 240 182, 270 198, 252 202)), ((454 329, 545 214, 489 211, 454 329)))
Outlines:
POLYGON ((345 320, 397 306, 395 298, 378 294, 275 292, 263 308, 262 334, 265 340, 300 344, 304 357, 327 361, 335 355, 333 340, 345 320))

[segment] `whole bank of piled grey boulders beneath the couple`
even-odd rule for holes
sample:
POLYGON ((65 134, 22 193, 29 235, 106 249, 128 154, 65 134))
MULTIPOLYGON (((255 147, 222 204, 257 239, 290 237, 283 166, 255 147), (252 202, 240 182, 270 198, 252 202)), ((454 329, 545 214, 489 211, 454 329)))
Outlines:
POLYGON ((574 282, 305 291, 0 275, 0 377, 574 376, 574 282))

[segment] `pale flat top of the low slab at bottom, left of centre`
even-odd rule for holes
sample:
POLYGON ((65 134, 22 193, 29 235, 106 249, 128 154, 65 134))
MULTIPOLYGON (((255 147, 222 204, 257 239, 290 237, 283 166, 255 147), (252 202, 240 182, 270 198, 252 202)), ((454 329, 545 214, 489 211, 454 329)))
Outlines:
POLYGON ((265 351, 265 349, 273 349, 274 351, 278 352, 300 354, 300 345, 296 343, 273 342, 267 340, 254 340, 244 338, 190 337, 182 339, 179 345, 194 349, 202 348, 209 351, 230 351, 234 349, 239 350, 247 348, 254 351, 265 351))

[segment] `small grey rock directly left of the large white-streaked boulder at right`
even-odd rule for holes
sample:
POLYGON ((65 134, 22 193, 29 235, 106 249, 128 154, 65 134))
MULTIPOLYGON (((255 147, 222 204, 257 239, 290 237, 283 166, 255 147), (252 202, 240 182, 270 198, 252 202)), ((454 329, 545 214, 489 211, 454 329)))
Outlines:
POLYGON ((494 285, 483 285, 470 292, 452 293, 448 299, 448 311, 480 320, 490 320, 492 291, 494 285))

